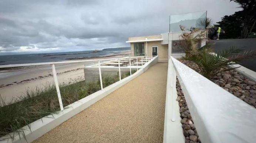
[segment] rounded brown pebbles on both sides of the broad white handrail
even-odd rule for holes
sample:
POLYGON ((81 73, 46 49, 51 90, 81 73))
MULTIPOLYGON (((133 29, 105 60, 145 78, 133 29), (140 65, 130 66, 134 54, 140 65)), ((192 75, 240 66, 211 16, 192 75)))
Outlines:
MULTIPOLYGON (((179 61, 200 74, 200 69, 195 63, 181 59, 179 59, 179 61)), ((210 81, 219 85, 220 87, 230 92, 234 96, 238 97, 239 99, 245 101, 250 106, 256 108, 255 82, 250 81, 245 76, 237 72, 235 69, 220 72, 212 79, 210 79, 210 81)), ((185 143, 201 143, 178 78, 176 78, 176 90, 178 94, 176 101, 179 102, 179 112, 181 116, 183 135, 185 136, 185 143)))

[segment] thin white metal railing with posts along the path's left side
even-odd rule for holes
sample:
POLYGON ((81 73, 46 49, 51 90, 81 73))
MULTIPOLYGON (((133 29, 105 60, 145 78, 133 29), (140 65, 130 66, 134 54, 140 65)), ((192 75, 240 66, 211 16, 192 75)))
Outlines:
MULTIPOLYGON (((129 58, 129 67, 125 67, 125 68, 129 68, 130 69, 130 75, 132 75, 131 72, 131 58, 137 58, 137 71, 138 71, 138 58, 152 58, 151 56, 129 56, 129 57, 122 57, 122 58, 129 58)), ((62 62, 41 62, 41 63, 31 63, 31 64, 13 64, 13 65, 0 65, 0 68, 11 68, 11 67, 26 67, 26 66, 37 66, 37 65, 51 65, 52 68, 52 72, 53 72, 53 79, 54 79, 54 83, 55 83, 55 87, 57 90, 57 96, 58 96, 58 101, 60 104, 60 110, 63 111, 63 103, 62 103, 62 99, 61 99, 61 94, 60 94, 60 88, 58 85, 58 78, 57 78, 57 73, 56 73, 56 69, 55 69, 55 64, 68 64, 68 63, 78 63, 78 62, 90 62, 90 61, 95 61, 98 64, 98 69, 99 69, 99 75, 100 75, 100 85, 101 85, 101 90, 103 89, 103 85, 102 85, 102 77, 101 77, 101 65, 106 63, 106 62, 101 62, 101 61, 106 61, 110 62, 110 61, 118 61, 118 67, 119 68, 119 79, 121 81, 121 70, 120 70, 120 59, 122 58, 108 58, 108 59, 97 59, 97 60, 77 60, 77 61, 62 61, 62 62)), ((154 57, 155 58, 155 57, 154 57)), ((152 60, 154 59, 152 58, 152 60)), ((122 67, 123 68, 123 67, 122 67)), ((141 66, 140 68, 143 68, 143 66, 141 66)))

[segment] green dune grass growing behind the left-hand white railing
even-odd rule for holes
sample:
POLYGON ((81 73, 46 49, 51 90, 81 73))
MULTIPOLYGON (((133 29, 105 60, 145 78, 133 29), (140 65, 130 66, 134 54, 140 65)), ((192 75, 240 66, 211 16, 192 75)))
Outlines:
MULTIPOLYGON (((132 74, 136 71, 132 71, 132 74)), ((130 72, 121 74, 121 78, 130 75, 130 72)), ((102 85, 107 87, 119 81, 119 74, 114 76, 102 76, 102 85)), ((68 106, 94 92, 101 89, 100 80, 80 81, 69 85, 60 85, 60 93, 63 106, 68 106)), ((56 88, 54 85, 47 85, 44 88, 27 90, 18 99, 13 99, 8 103, 0 96, 0 137, 11 132, 24 136, 23 130, 17 129, 23 126, 30 126, 31 122, 41 119, 60 111, 56 88)), ((43 121, 43 120, 42 120, 43 121)), ((8 136, 13 138, 13 136, 8 136)))

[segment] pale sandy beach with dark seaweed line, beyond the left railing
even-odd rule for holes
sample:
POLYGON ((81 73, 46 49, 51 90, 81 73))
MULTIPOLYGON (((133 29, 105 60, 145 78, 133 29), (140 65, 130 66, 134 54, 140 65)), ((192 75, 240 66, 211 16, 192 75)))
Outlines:
MULTIPOLYGON (((129 56, 130 51, 124 51, 113 56, 93 58, 118 58, 129 56)), ((88 59, 87 59, 88 60, 88 59)), ((80 62, 55 65, 59 84, 68 84, 84 80, 84 65, 94 62, 80 62)), ((5 101, 20 97, 26 90, 43 88, 53 84, 51 65, 41 65, 0 71, 0 94, 5 101)))

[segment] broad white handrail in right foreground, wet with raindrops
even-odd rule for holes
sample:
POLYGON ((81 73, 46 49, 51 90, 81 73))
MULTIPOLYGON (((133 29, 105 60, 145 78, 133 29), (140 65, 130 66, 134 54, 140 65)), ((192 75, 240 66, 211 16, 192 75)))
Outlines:
MULTIPOLYGON (((166 96, 176 94, 176 76, 191 112, 196 131, 203 143, 252 143, 256 135, 256 109, 216 85, 198 72, 182 64, 174 57, 169 58, 173 67, 168 82, 172 89, 166 96), (171 78, 171 79, 169 79, 171 78)), ((174 98, 171 103, 174 106, 174 98)), ((166 105, 167 106, 167 105, 166 105)), ((172 121, 176 121, 173 111, 172 121)), ((170 121, 170 122, 172 122, 170 121)), ((168 122, 168 121, 167 121, 168 122)), ((166 126, 165 126, 166 127, 166 126)), ((170 128, 165 128, 171 130, 170 128)), ((169 136, 164 135, 164 138, 169 136)), ((164 140, 170 142, 170 140, 164 140)))

